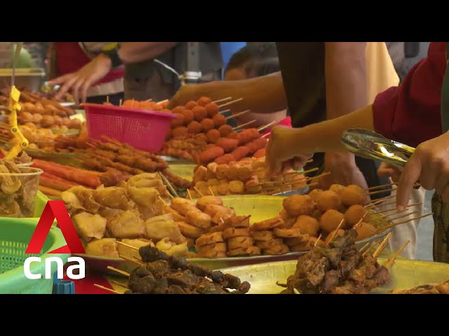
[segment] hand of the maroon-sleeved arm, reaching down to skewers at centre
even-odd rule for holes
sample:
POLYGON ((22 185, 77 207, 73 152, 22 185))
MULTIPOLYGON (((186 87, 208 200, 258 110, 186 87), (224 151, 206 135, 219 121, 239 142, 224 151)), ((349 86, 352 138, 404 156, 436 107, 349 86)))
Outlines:
POLYGON ((285 169, 299 170, 306 164, 313 153, 301 153, 301 144, 295 143, 294 128, 276 126, 270 134, 266 151, 267 174, 276 175, 285 169))

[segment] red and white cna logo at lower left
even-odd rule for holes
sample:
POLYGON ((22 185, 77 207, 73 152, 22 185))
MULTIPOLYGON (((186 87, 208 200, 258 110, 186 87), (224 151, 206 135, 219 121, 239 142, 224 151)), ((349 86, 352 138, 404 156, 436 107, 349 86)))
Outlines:
MULTIPOLYGON (((29 254, 39 254, 43 248, 43 243, 48 236, 48 232, 53 225, 53 221, 56 219, 58 226, 62 232, 62 235, 67 242, 67 245, 60 248, 56 248, 48 253, 76 253, 84 254, 86 253, 79 240, 78 234, 76 233, 75 227, 70 219, 69 213, 65 208, 64 202, 62 201, 48 201, 46 207, 43 209, 42 216, 37 223, 36 230, 34 230, 33 236, 29 241, 28 247, 25 253, 29 254)), ((69 257, 69 262, 73 262, 73 265, 67 267, 67 276, 69 279, 83 279, 86 276, 86 265, 83 258, 80 257, 69 257), (78 272, 74 274, 74 270, 77 269, 78 272)), ((24 263, 24 273, 28 279, 41 279, 42 274, 33 274, 31 272, 32 262, 41 262, 40 257, 28 257, 25 259, 24 263)), ((56 262, 58 265, 58 279, 62 279, 64 274, 64 262, 59 257, 50 257, 45 260, 45 278, 51 279, 51 263, 56 262)))

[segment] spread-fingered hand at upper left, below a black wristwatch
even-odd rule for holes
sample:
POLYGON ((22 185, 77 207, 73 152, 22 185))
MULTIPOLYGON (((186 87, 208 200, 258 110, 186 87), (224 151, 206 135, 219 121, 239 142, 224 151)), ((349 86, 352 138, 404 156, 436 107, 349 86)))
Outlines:
POLYGON ((112 68, 111 59, 99 54, 78 71, 67 73, 48 82, 49 85, 62 85, 55 99, 60 99, 66 92, 71 92, 75 102, 86 102, 89 87, 105 77, 112 68))

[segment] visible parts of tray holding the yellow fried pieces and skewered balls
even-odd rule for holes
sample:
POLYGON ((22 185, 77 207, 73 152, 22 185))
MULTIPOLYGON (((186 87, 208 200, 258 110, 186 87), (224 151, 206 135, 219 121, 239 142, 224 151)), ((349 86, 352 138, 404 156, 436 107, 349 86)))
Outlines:
MULTIPOLYGON (((259 221, 264 221, 268 218, 273 218, 278 216, 279 212, 283 209, 282 202, 286 197, 281 196, 266 196, 266 195, 239 195, 239 196, 224 196, 222 197, 223 204, 227 207, 232 207, 236 211, 237 215, 245 216, 251 215, 251 223, 256 223, 259 221)), ((379 216, 379 215, 375 215, 379 216)), ((388 223, 387 220, 385 222, 380 222, 377 225, 384 225, 388 223), (381 224, 382 223, 382 224, 381 224)), ((366 244, 368 241, 373 241, 375 239, 385 237, 389 232, 391 232, 391 228, 385 230, 379 235, 375 235, 373 237, 369 237, 367 239, 363 239, 361 241, 356 242, 356 246, 361 247, 366 244)), ((252 265, 261 262, 273 262, 279 260, 296 260, 299 255, 302 255, 306 252, 291 252, 283 255, 257 255, 253 257, 229 257, 229 258, 192 258, 189 259, 189 262, 196 262, 198 264, 209 267, 210 269, 219 269, 223 267, 233 267, 239 265, 252 265)), ((109 271, 107 266, 116 267, 119 269, 126 270, 126 272, 130 272, 135 268, 135 264, 132 262, 127 262, 121 258, 104 258, 94 255, 79 255, 86 263, 93 269, 105 273, 105 274, 114 274, 115 272, 109 271)))

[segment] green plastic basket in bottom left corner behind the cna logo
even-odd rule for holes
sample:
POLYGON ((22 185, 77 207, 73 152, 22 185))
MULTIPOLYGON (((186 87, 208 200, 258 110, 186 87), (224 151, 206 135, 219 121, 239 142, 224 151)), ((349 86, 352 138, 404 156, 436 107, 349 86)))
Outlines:
POLYGON ((46 254, 66 244, 61 230, 54 226, 48 233, 41 253, 25 254, 36 224, 34 219, 0 218, 0 294, 52 293, 53 275, 58 267, 55 262, 51 262, 52 279, 45 279, 45 260, 59 257, 65 264, 69 254, 46 254), (27 279, 24 274, 25 259, 31 256, 41 257, 41 262, 32 262, 30 269, 33 274, 43 274, 41 279, 27 279))

